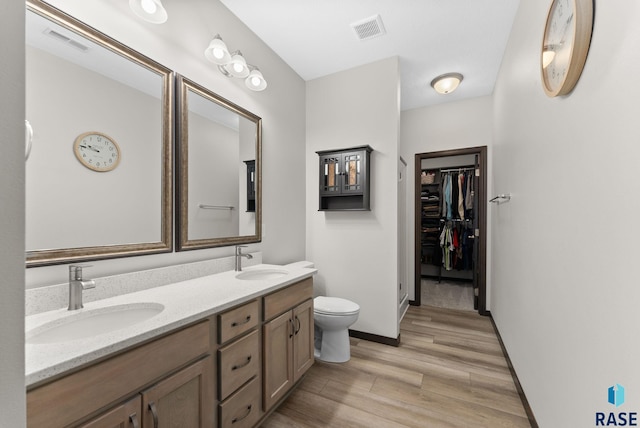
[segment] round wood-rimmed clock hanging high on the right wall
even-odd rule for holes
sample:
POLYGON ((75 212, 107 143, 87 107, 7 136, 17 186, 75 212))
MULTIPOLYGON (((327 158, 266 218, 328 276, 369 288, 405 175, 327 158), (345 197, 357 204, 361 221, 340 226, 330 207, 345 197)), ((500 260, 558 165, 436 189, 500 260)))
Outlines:
POLYGON ((553 0, 542 41, 542 86, 550 97, 571 92, 580 78, 593 30, 593 0, 553 0))

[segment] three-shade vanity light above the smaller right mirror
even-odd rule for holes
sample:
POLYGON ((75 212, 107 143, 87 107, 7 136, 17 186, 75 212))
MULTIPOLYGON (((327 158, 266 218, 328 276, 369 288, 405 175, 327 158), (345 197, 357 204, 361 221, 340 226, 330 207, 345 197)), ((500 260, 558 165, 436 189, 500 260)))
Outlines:
POLYGON ((209 42, 204 56, 216 64, 220 73, 225 76, 245 79, 245 85, 252 91, 264 91, 267 87, 267 81, 258 67, 247 64, 239 50, 230 53, 219 34, 209 42))

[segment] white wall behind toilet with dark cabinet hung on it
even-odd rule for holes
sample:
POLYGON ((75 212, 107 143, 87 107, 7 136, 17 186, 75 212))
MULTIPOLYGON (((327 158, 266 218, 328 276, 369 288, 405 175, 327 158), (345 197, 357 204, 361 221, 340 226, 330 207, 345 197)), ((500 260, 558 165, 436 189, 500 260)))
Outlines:
POLYGON ((307 82, 307 258, 316 294, 360 305, 352 329, 396 338, 398 59, 307 82), (369 144, 371 211, 318 211, 316 151, 369 144))

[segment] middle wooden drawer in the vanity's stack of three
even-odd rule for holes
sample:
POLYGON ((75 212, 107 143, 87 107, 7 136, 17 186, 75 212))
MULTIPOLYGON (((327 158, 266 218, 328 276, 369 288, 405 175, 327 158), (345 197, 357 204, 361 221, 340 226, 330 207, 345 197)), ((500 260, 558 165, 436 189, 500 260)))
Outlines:
POLYGON ((254 376, 260 370, 260 337, 254 331, 242 339, 218 350, 219 390, 223 401, 229 394, 254 376))

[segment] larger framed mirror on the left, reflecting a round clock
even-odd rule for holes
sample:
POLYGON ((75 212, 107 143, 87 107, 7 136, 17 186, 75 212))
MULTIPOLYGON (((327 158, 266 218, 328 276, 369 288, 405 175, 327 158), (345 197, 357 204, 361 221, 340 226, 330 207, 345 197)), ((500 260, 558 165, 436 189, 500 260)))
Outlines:
POLYGON ((171 70, 27 1, 27 267, 173 249, 171 70))

